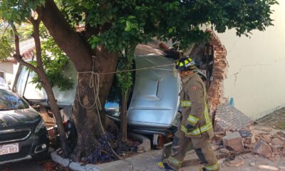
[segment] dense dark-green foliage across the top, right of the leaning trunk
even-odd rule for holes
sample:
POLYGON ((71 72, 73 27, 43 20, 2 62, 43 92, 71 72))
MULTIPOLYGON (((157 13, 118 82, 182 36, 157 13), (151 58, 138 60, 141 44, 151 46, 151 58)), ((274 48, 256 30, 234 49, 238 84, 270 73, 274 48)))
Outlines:
POLYGON ((222 33, 236 28, 238 36, 253 29, 264 31, 271 26, 270 6, 275 0, 188 0, 188 1, 61 1, 66 19, 73 26, 108 25, 104 33, 89 38, 89 43, 102 44, 110 51, 122 51, 157 37, 162 41, 179 41, 180 48, 204 41, 207 35, 201 24, 222 33))

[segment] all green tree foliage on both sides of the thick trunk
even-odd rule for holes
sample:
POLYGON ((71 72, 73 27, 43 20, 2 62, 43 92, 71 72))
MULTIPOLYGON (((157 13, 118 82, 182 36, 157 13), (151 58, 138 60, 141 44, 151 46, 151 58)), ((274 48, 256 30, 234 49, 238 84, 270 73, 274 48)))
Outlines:
MULTIPOLYGON (((103 45, 109 51, 122 53, 133 51, 138 43, 147 42, 153 37, 162 41, 171 39, 173 42, 178 42, 175 45, 179 48, 187 48, 194 42, 208 38, 207 34, 202 31, 201 24, 212 26, 217 32, 235 28, 237 36, 242 34, 248 36, 254 29, 264 31, 267 26, 272 25, 270 6, 277 4, 277 1, 58 0, 56 3, 68 24, 74 29, 78 26, 89 26, 95 29, 95 33, 85 36, 91 49, 103 45)), ((18 28, 22 28, 23 22, 31 17, 38 6, 44 4, 45 0, 3 0, 0 2, 0 16, 6 24, 20 24, 18 28)), ((31 27, 31 24, 28 26, 31 27)), ((5 30, 5 25, 1 24, 1 30, 5 30)), ((19 33, 27 38, 29 32, 20 30, 19 33)), ((7 36, 7 33, 1 36, 1 56, 8 56, 13 50, 10 41, 11 38, 7 36)), ((53 71, 53 68, 58 68, 53 65, 55 63, 64 66, 66 59, 63 58, 63 52, 56 47, 51 38, 45 44, 48 46, 43 45, 43 61, 52 85, 60 82, 59 78, 67 82, 67 85, 61 86, 61 83, 58 85, 63 89, 71 88, 68 78, 64 78, 59 71, 53 71), (53 55, 58 56, 55 62, 52 63, 46 58, 45 51, 47 50, 53 51, 53 55), (56 73, 58 77, 55 77, 53 73, 56 73)), ((38 81, 37 78, 33 82, 36 81, 38 81)))

